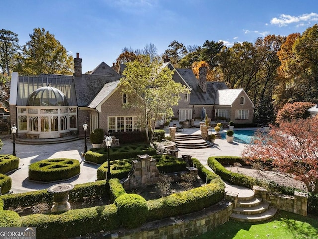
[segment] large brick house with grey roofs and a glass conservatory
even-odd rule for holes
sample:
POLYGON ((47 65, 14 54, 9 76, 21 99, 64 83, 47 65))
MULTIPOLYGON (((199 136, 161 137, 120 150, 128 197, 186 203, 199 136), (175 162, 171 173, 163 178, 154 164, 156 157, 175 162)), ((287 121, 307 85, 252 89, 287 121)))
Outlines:
MULTIPOLYGON (((12 73, 10 121, 16 123, 19 135, 42 139, 83 135, 85 121, 89 131, 139 130, 134 112, 123 108, 133 96, 120 89, 122 76, 104 62, 89 74, 82 74, 81 63, 77 53, 73 75, 31 77, 12 73)), ((200 68, 199 81, 191 69, 175 69, 169 61, 164 67, 174 70, 173 79, 190 89, 190 93, 180 93, 179 105, 173 108, 180 121, 207 114, 214 120, 252 122, 253 103, 243 89, 228 89, 222 82, 206 82, 205 66, 200 68)), ((121 70, 122 67, 118 72, 121 70)))

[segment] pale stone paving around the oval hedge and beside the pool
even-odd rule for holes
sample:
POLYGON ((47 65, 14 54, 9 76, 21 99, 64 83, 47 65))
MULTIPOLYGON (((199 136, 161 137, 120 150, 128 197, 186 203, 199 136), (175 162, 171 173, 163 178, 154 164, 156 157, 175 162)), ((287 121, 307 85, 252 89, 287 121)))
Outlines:
MULTIPOLYGON (((183 132, 177 134, 200 134, 200 130, 195 128, 185 128, 183 132)), ((0 154, 12 154, 13 143, 9 136, 1 136, 4 145, 0 154)), ((91 144, 88 140, 88 148, 91 144)), ((207 159, 210 156, 240 156, 244 144, 227 143, 225 139, 216 139, 214 146, 205 149, 179 149, 178 156, 191 155, 200 160, 203 165, 207 165, 207 159)), ((84 150, 84 139, 79 139, 73 142, 64 142, 56 144, 44 145, 27 145, 16 143, 16 153, 20 157, 20 169, 11 173, 13 193, 28 192, 39 189, 46 189, 55 183, 36 183, 28 180, 28 167, 31 163, 52 158, 71 158, 77 159, 80 162, 80 175, 66 182, 72 184, 81 184, 87 182, 94 182, 97 179, 98 165, 84 162, 81 152, 84 150)), ((231 190, 232 191, 232 190, 231 190)))

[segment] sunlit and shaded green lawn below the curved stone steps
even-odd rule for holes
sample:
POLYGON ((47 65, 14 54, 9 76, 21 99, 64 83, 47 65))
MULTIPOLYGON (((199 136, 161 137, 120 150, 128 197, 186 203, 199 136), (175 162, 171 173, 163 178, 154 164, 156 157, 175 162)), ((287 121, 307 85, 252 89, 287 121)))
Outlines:
POLYGON ((318 217, 278 211, 272 220, 245 223, 230 220, 194 239, 318 239, 318 217))

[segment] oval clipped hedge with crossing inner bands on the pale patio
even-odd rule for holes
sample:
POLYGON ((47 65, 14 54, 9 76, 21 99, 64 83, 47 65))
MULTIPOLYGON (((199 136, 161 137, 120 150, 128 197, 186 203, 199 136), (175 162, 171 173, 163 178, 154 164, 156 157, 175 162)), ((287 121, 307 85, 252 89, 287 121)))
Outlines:
POLYGON ((68 158, 45 159, 29 167, 29 179, 42 182, 66 180, 79 173, 79 160, 68 158))

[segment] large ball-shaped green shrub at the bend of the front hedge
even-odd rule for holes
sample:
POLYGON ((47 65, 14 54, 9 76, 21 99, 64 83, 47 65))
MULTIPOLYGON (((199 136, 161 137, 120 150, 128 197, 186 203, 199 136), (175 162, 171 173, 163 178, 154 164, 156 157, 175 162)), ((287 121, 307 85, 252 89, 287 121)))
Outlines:
POLYGON ((147 201, 138 194, 123 194, 115 200, 117 214, 125 228, 136 228, 146 222, 147 201))

